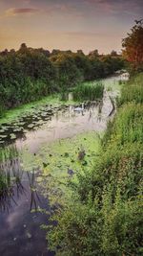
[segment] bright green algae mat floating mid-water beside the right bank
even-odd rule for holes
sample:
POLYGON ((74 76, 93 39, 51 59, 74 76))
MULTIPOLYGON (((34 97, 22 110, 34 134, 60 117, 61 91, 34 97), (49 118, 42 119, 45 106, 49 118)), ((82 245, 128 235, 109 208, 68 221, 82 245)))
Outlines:
POLYGON ((58 140, 40 149, 35 158, 37 165, 42 167, 42 174, 37 180, 51 204, 63 204, 64 199, 71 195, 70 183, 76 184, 77 175, 91 172, 99 148, 99 135, 92 131, 58 140))

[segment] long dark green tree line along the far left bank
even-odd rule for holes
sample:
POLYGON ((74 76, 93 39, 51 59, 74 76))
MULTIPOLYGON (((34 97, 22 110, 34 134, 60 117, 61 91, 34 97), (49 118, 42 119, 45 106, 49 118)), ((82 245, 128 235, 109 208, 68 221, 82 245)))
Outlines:
POLYGON ((68 90, 81 81, 93 81, 122 69, 124 60, 115 51, 86 56, 81 50, 32 49, 22 43, 18 51, 0 53, 0 107, 10 108, 68 90))

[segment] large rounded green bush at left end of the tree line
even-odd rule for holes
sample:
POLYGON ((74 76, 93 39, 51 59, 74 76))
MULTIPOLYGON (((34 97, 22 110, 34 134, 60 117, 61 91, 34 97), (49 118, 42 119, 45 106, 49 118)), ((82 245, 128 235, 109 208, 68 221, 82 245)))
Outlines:
POLYGON ((55 70, 50 60, 31 51, 0 57, 0 102, 10 108, 49 95, 55 70))

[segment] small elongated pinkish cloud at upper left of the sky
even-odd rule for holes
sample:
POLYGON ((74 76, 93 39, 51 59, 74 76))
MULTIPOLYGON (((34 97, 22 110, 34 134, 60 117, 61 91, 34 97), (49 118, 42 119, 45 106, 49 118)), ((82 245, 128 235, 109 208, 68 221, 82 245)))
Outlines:
POLYGON ((40 10, 36 8, 10 8, 5 13, 6 16, 16 16, 20 14, 32 14, 35 12, 40 12, 40 10))

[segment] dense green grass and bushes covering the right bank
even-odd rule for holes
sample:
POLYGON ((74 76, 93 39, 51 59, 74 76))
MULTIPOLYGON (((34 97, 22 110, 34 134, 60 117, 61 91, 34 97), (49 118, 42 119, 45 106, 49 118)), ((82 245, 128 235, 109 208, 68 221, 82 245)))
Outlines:
MULTIPOLYGON (((134 81, 142 81, 143 74, 134 81)), ((124 85, 120 107, 103 138, 91 172, 73 180, 72 198, 51 220, 48 233, 56 255, 137 255, 142 244, 143 106, 136 83, 124 85), (128 95, 128 93, 127 93, 128 95), (124 99, 122 101, 122 99, 124 99), (59 248, 58 250, 56 248, 59 248)))

